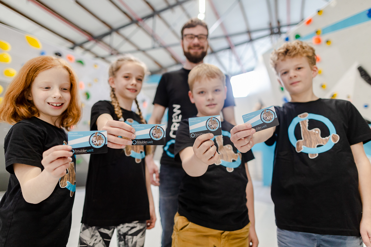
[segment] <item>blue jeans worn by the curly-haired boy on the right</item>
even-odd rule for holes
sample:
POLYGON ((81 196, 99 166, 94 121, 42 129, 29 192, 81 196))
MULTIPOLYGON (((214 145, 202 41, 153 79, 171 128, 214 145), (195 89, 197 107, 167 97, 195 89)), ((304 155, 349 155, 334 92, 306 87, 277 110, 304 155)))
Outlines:
POLYGON ((277 228, 278 247, 363 247, 361 237, 322 235, 277 228))

